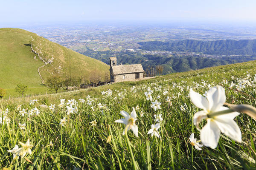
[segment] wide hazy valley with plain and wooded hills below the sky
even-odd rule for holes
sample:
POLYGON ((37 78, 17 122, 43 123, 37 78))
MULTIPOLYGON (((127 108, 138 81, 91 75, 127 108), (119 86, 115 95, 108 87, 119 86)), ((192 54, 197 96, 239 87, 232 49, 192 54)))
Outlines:
POLYGON ((30 28, 47 39, 109 64, 162 65, 163 74, 256 59, 250 27, 79 24, 30 28), (227 40, 230 39, 230 40, 227 40))

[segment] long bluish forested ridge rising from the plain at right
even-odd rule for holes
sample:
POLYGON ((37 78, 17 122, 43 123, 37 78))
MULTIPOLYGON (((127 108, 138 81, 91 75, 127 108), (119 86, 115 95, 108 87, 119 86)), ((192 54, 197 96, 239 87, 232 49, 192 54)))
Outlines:
POLYGON ((256 40, 183 40, 183 41, 148 41, 139 42, 140 49, 154 51, 190 51, 204 54, 254 55, 256 40))

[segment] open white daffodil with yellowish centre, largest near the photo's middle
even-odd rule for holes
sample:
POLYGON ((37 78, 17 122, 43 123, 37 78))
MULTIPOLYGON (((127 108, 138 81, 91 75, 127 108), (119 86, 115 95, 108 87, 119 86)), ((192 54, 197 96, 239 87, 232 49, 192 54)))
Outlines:
MULTIPOLYGON (((131 112, 131 116, 129 115, 129 113, 127 113, 126 111, 121 111, 120 112, 122 114, 122 116, 124 116, 124 119, 118 119, 115 122, 116 123, 123 123, 126 125, 125 129, 127 128, 128 130, 132 130, 134 135, 136 137, 138 137, 138 126, 135 124, 135 121, 137 120, 137 114, 134 108, 132 108, 132 112, 131 112)), ((125 129, 123 131, 123 135, 125 134, 125 129)))

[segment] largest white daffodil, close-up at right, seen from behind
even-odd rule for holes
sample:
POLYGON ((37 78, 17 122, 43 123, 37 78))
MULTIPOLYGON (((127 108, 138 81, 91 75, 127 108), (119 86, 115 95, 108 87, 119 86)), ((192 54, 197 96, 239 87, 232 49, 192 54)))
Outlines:
POLYGON ((214 149, 218 145, 220 132, 237 142, 241 142, 241 130, 233 120, 240 113, 232 112, 229 108, 223 107, 226 101, 223 87, 217 85, 209 89, 206 98, 191 89, 189 97, 194 105, 203 109, 203 111, 199 111, 194 115, 196 127, 199 128, 198 124, 202 119, 207 119, 207 124, 200 132, 202 144, 214 149))

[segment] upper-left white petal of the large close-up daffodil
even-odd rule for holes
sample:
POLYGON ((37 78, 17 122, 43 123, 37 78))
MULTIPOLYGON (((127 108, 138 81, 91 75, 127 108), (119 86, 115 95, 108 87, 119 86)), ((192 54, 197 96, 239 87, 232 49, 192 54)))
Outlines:
POLYGON ((189 91, 189 98, 191 100, 191 102, 198 108, 207 110, 209 107, 209 102, 207 101, 207 99, 202 96, 201 94, 193 91, 192 89, 190 89, 189 91))

